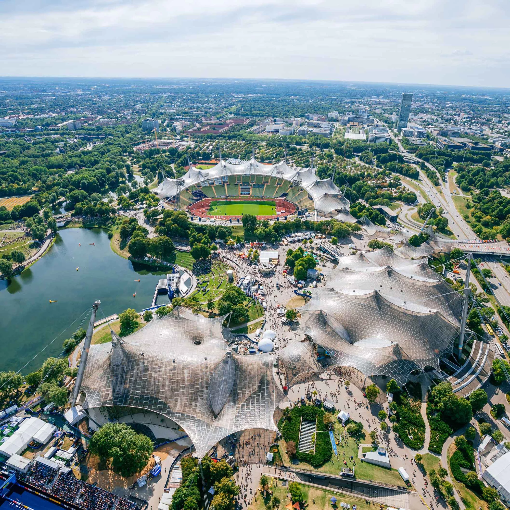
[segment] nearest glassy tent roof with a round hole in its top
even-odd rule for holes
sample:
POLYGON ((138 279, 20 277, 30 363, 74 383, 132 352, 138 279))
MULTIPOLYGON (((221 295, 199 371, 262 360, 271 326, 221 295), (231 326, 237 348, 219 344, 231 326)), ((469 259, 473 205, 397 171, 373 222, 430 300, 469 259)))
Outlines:
MULTIPOLYGON (((275 407, 286 400, 273 375, 274 353, 228 350, 225 317, 174 310, 136 333, 93 345, 85 369, 83 407, 132 406, 163 414, 188 433, 199 457, 233 432, 276 430, 275 407)), ((319 367, 310 343, 278 351, 286 380, 319 367)))

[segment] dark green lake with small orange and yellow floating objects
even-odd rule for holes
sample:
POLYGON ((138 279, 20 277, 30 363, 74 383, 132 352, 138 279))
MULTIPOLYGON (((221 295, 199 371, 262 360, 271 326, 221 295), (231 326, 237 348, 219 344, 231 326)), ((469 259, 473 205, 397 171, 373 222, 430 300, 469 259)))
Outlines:
POLYGON ((82 319, 87 327, 96 299, 101 301, 96 320, 103 313, 149 307, 162 274, 119 257, 100 228, 60 230, 32 267, 10 281, 0 280, 0 371, 19 370, 54 339, 22 372, 59 355, 82 319))

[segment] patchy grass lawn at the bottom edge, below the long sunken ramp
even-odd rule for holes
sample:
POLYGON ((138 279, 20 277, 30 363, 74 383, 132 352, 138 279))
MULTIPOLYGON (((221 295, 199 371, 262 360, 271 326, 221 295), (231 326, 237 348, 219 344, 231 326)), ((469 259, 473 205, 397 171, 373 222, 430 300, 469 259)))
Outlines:
MULTIPOLYGON (((291 501, 287 497, 287 487, 282 486, 281 479, 269 477, 269 483, 271 483, 271 490, 273 491, 274 496, 278 496, 281 500, 280 508, 285 508, 287 504, 291 501)), ((299 484, 301 487, 301 492, 303 494, 303 499, 307 502, 307 510, 327 510, 331 508, 330 498, 335 496, 338 500, 338 506, 340 507, 340 502, 348 503, 349 505, 357 505, 360 510, 362 508, 367 507, 367 504, 364 499, 356 498, 348 494, 342 494, 335 491, 330 491, 327 489, 319 489, 317 487, 312 487, 304 483, 299 484), (315 501, 315 502, 314 502, 315 501)), ((262 494, 258 494, 253 498, 251 504, 248 506, 250 510, 266 510, 266 502, 269 501, 270 494, 267 492, 267 496, 264 499, 262 494)))

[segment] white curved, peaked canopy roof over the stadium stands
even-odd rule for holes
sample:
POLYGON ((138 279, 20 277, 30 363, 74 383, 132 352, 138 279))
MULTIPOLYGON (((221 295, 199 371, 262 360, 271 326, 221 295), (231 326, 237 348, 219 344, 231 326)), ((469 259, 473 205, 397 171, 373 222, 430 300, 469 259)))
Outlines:
MULTIPOLYGON (((221 160, 209 170, 200 171, 194 167, 181 177, 184 180, 184 188, 198 183, 217 179, 228 175, 263 175, 274 176, 287 181, 301 180, 301 186, 314 200, 315 208, 327 214, 331 211, 349 208, 349 201, 344 197, 341 190, 333 183, 333 180, 320 180, 313 168, 290 167, 285 161, 275 165, 264 165, 251 159, 241 165, 233 165, 221 160)), ((156 189, 160 197, 172 197, 177 193, 175 179, 165 179, 156 189)))

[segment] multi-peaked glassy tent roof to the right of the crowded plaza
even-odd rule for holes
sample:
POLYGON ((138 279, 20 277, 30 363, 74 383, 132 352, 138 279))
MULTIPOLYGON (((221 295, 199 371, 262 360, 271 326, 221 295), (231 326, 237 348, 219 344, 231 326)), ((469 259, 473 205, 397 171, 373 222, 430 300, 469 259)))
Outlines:
POLYGON ((423 260, 385 247, 342 257, 300 312, 301 330, 334 365, 405 382, 452 352, 462 296, 423 260))

